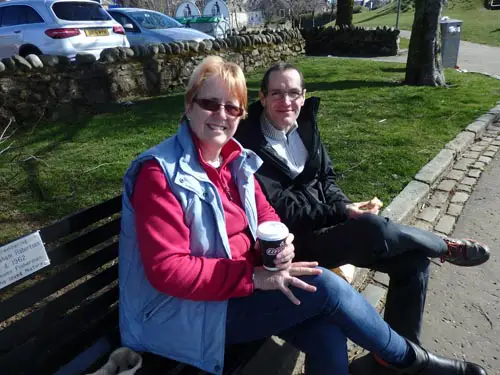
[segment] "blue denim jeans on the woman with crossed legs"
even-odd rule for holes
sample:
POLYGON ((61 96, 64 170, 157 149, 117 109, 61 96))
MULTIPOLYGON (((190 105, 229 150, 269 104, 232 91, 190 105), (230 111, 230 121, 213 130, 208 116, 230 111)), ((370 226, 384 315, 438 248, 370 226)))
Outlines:
POLYGON ((323 269, 321 275, 302 280, 317 291, 292 287, 299 306, 280 291, 257 291, 229 300, 227 344, 279 336, 306 353, 308 375, 347 375, 346 338, 388 362, 407 360, 405 339, 342 278, 323 269))

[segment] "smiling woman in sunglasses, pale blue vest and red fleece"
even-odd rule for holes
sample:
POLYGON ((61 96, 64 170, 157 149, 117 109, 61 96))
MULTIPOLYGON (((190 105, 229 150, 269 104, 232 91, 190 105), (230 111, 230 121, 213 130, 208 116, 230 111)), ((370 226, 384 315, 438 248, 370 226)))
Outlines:
POLYGON ((348 372, 346 337, 405 374, 482 375, 406 341, 349 284, 293 263, 293 235, 270 272, 257 225, 279 220, 254 178, 260 159, 232 138, 245 114, 241 69, 218 57, 193 72, 178 133, 124 178, 120 235, 123 344, 221 374, 224 346, 278 335, 306 371, 348 372))

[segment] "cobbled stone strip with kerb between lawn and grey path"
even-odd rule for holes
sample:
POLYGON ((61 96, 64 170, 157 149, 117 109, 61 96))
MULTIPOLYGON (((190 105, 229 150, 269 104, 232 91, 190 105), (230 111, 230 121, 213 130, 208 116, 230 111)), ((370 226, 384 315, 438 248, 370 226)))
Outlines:
MULTIPOLYGON (((491 160, 495 156, 500 148, 499 134, 500 102, 448 142, 383 210, 382 216, 394 222, 434 230, 440 235, 451 233, 473 185, 485 168, 486 164, 479 159, 487 157, 491 160), (466 152, 469 154, 464 158, 466 152), (454 168, 457 163, 461 169, 454 168), (469 178, 474 181, 468 180, 469 178), (439 186, 445 181, 454 181, 458 186, 456 189, 446 189, 448 191, 439 190, 439 186), (460 187, 470 191, 464 191, 460 187), (426 211, 421 212, 424 209, 426 211)), ((443 186, 446 184, 451 182, 443 186)), ((352 284, 377 311, 383 311, 389 284, 387 275, 357 268, 352 284)), ((366 351, 348 341, 348 354, 352 360, 366 354, 366 351)), ((273 336, 240 375, 303 375, 304 360, 304 353, 273 336)))

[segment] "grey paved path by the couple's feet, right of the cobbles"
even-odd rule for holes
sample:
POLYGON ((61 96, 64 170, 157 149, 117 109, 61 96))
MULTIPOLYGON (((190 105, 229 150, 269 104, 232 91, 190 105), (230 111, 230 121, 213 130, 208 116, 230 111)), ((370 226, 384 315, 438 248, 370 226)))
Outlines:
MULTIPOLYGON (((497 60, 500 61, 500 60, 497 60)), ((487 167, 460 215, 455 237, 490 244, 480 267, 434 266, 423 343, 446 355, 467 356, 500 375, 500 153, 487 167)))

